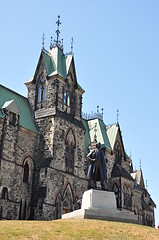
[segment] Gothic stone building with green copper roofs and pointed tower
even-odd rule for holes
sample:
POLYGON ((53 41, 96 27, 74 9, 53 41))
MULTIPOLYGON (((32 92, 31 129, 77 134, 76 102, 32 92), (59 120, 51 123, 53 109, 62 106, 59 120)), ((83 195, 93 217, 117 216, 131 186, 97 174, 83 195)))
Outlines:
POLYGON ((86 156, 100 141, 118 209, 154 226, 155 203, 142 170, 133 170, 119 123, 107 126, 99 110, 82 117, 84 90, 58 31, 25 83, 27 98, 0 85, 0 219, 51 220, 79 209, 91 187, 86 156))

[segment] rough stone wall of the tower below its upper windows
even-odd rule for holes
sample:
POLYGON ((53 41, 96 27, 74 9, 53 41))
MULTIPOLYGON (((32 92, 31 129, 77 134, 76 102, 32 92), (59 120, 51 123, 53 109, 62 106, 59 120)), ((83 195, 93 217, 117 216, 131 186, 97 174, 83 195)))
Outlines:
POLYGON ((39 169, 37 192, 41 188, 45 191, 36 200, 35 218, 54 219, 56 217, 56 196, 60 193, 64 200, 64 191, 67 184, 72 189, 73 200, 75 200, 75 197, 81 199, 83 192, 87 190, 88 181, 84 171, 86 168, 84 155, 85 130, 81 122, 65 112, 56 111, 55 115, 50 114, 50 116, 45 116, 43 113, 45 113, 45 110, 39 110, 39 115, 36 115, 36 122, 40 128, 41 139, 43 139, 38 150, 43 163, 41 170, 39 169), (75 141, 73 172, 68 172, 66 169, 67 137, 73 138, 71 141, 75 141))

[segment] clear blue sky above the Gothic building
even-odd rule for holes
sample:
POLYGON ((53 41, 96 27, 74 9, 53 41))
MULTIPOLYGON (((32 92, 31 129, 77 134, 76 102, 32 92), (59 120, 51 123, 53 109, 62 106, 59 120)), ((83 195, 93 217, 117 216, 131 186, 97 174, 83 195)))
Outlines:
MULTIPOLYGON (((24 82, 55 37, 57 16, 64 51, 74 37, 83 111, 104 108, 106 124, 119 123, 134 168, 142 169, 159 207, 159 1, 5 0, 0 6, 0 83, 27 95, 24 82)), ((156 225, 159 210, 156 210, 156 225)))

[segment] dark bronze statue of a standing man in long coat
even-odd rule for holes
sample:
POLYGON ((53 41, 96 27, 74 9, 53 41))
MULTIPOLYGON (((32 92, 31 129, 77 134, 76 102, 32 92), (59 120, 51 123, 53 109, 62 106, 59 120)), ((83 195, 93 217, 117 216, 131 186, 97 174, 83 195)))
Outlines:
POLYGON ((90 160, 87 176, 88 179, 93 180, 93 188, 97 189, 97 181, 100 181, 102 190, 107 190, 105 185, 107 180, 106 158, 100 142, 96 143, 96 149, 91 151, 87 157, 90 160))

